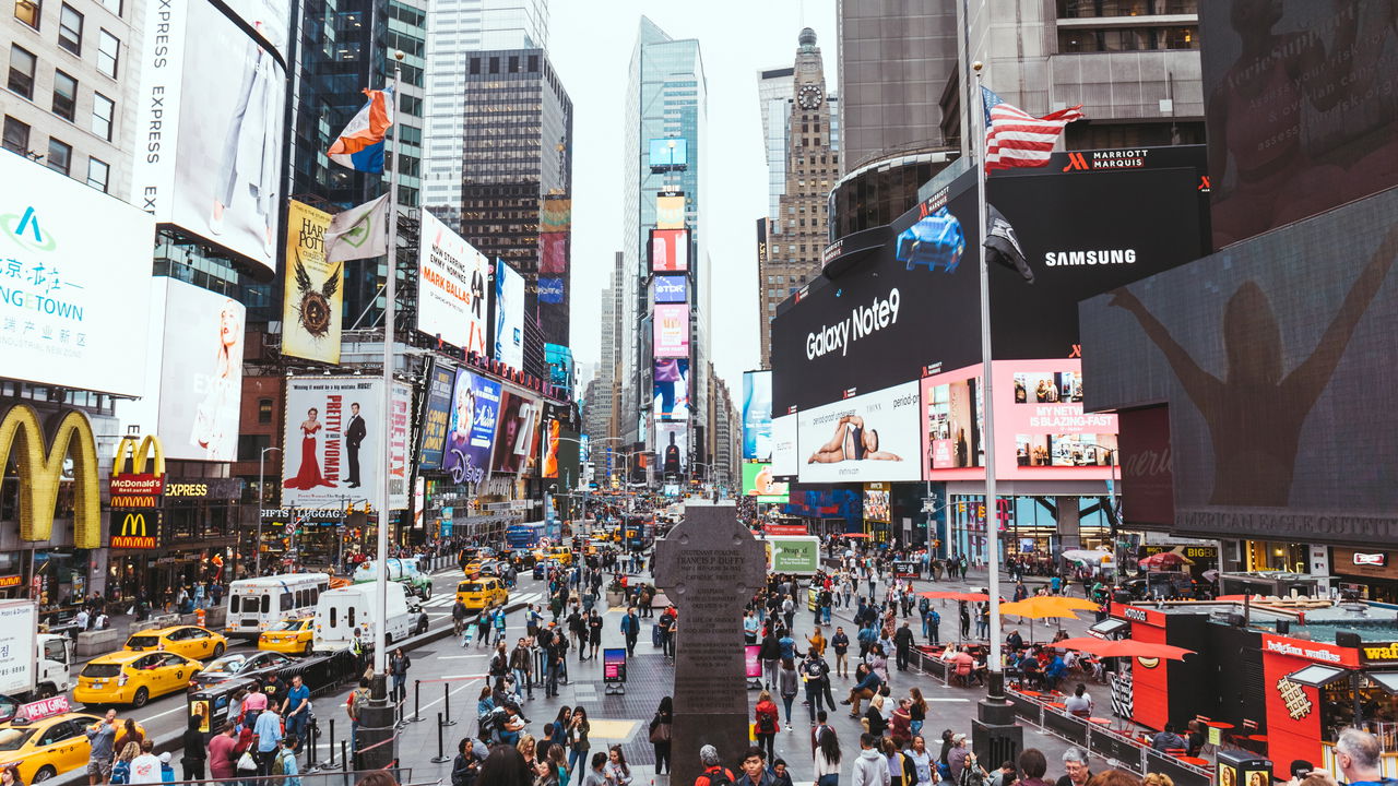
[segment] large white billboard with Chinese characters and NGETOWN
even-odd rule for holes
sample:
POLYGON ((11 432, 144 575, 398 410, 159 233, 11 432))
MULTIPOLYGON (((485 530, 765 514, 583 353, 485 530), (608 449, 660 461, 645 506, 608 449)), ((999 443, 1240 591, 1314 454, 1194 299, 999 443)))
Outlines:
POLYGON ((122 396, 145 385, 155 222, 0 155, 0 373, 122 396))

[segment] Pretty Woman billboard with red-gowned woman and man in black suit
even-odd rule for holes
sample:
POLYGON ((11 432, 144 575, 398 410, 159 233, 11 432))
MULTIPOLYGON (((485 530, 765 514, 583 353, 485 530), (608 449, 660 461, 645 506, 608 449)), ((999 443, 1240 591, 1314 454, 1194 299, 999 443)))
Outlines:
POLYGON ((281 503, 343 508, 383 488, 383 380, 305 376, 287 380, 281 503))

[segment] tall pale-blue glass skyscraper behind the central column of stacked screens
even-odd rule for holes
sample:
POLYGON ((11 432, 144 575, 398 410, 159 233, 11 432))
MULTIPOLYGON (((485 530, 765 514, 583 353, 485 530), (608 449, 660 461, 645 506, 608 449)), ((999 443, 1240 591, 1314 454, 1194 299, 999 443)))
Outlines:
MULTIPOLYGON (((647 302, 650 231, 657 224, 657 199, 661 192, 684 199, 682 220, 688 235, 689 292, 689 364, 688 380, 695 418, 692 432, 700 432, 707 418, 707 331, 709 298, 707 257, 705 253, 700 166, 707 133, 707 84, 696 39, 674 39, 649 18, 642 17, 628 69, 625 109, 624 218, 622 253, 625 294, 622 336, 621 438, 628 443, 647 439, 650 432, 651 331, 653 315, 647 302), (684 140, 685 161, 653 166, 651 140, 684 140), (646 392, 647 394, 639 394, 646 392)), ((667 150, 661 147, 661 150, 667 150)), ((678 144, 674 148, 678 150, 678 144)), ((654 448, 654 446, 651 446, 654 448)), ((702 452, 702 450, 700 450, 702 452)), ((702 456, 692 459, 703 462, 702 456)))

